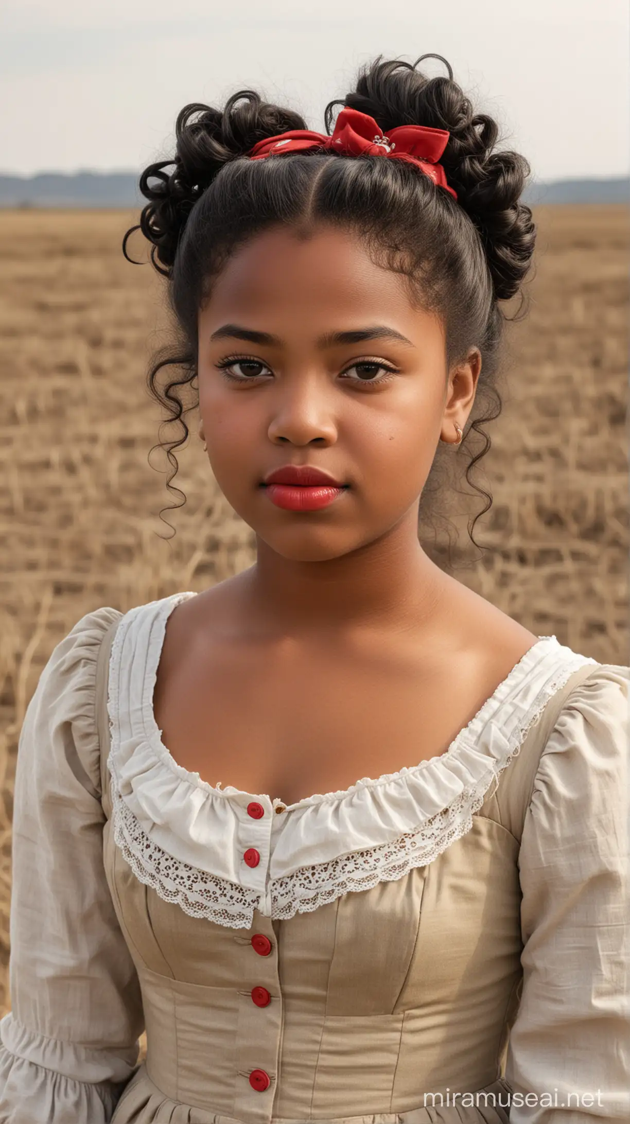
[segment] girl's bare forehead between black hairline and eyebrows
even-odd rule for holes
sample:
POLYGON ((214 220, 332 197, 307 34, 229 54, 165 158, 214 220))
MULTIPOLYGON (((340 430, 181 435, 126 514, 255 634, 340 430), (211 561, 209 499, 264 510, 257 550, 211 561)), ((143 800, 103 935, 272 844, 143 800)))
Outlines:
POLYGON ((408 321, 418 309, 406 279, 377 264, 358 235, 274 227, 231 255, 200 316, 206 324, 244 316, 382 323, 384 316, 408 321))

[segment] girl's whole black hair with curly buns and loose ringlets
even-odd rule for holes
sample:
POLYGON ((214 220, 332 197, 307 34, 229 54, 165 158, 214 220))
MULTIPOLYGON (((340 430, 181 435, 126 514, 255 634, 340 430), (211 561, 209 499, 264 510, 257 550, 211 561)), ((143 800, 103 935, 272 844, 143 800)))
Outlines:
MULTIPOLYGON (((171 506, 186 502, 181 489, 171 486, 178 471, 173 448, 189 435, 184 414, 198 407, 198 393, 187 405, 184 392, 198 390, 200 303, 236 246, 278 223, 309 227, 322 221, 357 230, 408 278, 424 307, 443 318, 449 364, 470 346, 479 347, 483 366, 470 425, 454 453, 468 456, 466 479, 486 498, 469 524, 478 546, 472 528, 492 506, 492 496, 470 480, 470 470, 490 447, 483 424, 502 410, 496 383, 503 324, 520 317, 525 305, 521 287, 532 261, 536 227, 521 196, 530 166, 516 152, 496 151, 496 121, 475 112, 440 55, 423 55, 414 64, 376 58, 359 72, 354 90, 326 107, 328 135, 335 108, 344 106, 369 114, 385 134, 399 125, 448 129, 440 163, 457 201, 404 161, 322 149, 249 160, 256 142, 307 127, 299 114, 263 101, 253 90, 234 93, 223 109, 184 106, 177 119, 174 157, 150 164, 141 175, 148 202, 140 224, 127 230, 123 252, 132 261, 127 241, 142 230, 152 244, 153 265, 168 279, 174 314, 177 338, 154 356, 147 373, 150 392, 166 410, 166 423, 180 427, 178 438, 158 443, 172 465, 166 487, 183 497, 171 506), (448 78, 428 78, 417 70, 426 57, 444 62, 448 78), (508 317, 500 302, 519 292, 520 307, 508 317), (159 375, 172 366, 179 368, 179 378, 166 375, 161 384, 159 375), (470 448, 472 430, 482 438, 477 452, 470 448)), ((438 514, 435 492, 452 472, 449 463, 454 457, 452 446, 438 448, 421 497, 418 526, 438 514)))

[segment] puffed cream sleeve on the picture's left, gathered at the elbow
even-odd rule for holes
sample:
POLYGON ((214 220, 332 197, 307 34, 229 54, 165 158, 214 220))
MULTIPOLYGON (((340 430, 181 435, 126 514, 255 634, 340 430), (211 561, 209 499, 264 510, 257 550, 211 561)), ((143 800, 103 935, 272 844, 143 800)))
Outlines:
POLYGON ((0 1124, 108 1124, 137 1069, 142 998, 105 873, 94 713, 117 616, 88 613, 57 644, 20 731, 0 1124))

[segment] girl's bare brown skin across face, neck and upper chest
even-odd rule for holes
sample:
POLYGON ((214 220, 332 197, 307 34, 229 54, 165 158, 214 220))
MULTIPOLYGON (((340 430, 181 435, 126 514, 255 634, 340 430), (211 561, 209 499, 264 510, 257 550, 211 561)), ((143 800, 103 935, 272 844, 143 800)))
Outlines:
POLYGON ((256 562, 169 617, 154 711, 171 755, 290 805, 443 753, 538 641, 417 538, 478 350, 448 370, 440 317, 356 235, 285 228, 230 259, 198 361, 199 434, 256 562), (288 463, 349 488, 318 511, 278 508, 261 481, 288 463))

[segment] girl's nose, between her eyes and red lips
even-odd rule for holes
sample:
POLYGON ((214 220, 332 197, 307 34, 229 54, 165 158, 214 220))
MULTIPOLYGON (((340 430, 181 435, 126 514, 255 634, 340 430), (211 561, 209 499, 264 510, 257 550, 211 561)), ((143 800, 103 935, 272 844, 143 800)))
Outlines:
POLYGON ((327 379, 315 374, 288 379, 273 396, 269 438, 274 444, 308 445, 336 439, 332 389, 327 379))

